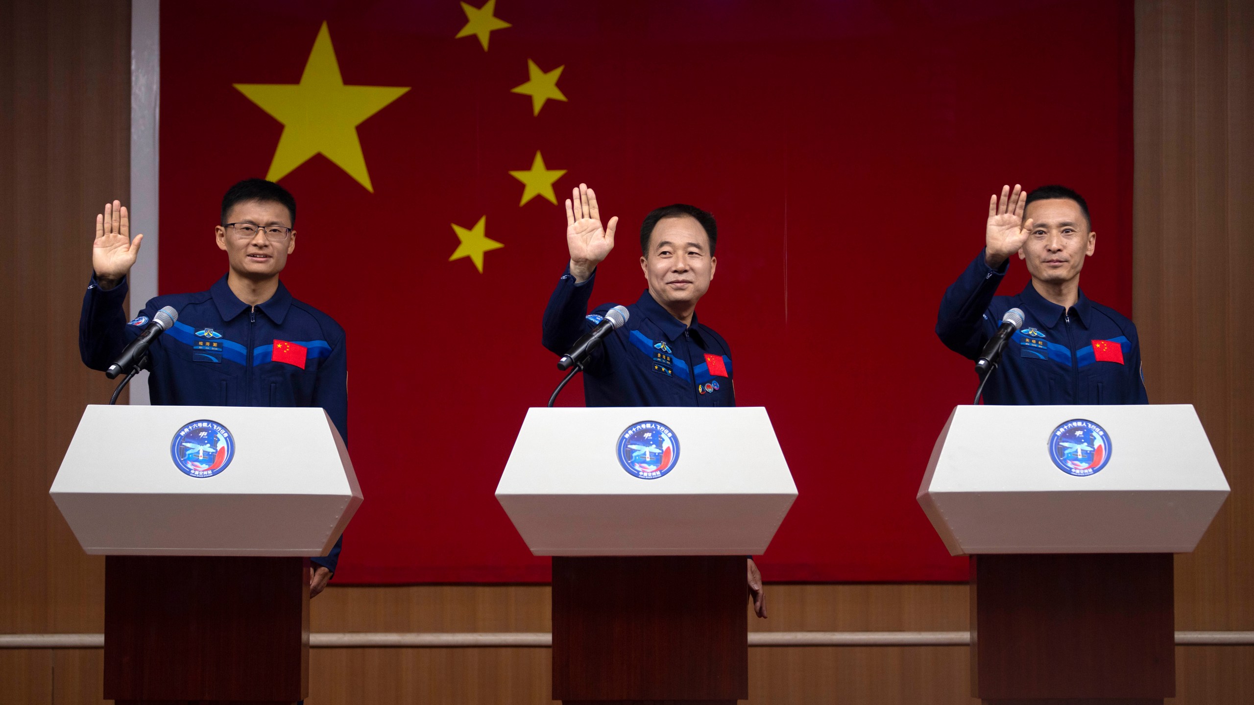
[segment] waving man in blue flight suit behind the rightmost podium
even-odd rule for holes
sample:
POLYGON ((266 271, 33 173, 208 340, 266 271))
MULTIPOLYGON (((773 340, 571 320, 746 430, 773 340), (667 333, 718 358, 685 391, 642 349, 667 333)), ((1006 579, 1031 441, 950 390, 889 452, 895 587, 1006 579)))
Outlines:
POLYGON ((1025 314, 984 386, 988 404, 1147 404, 1141 346, 1127 317, 1088 300, 1080 270, 1097 247, 1088 204, 1062 186, 1002 187, 988 203, 984 251, 940 301, 937 335, 977 359, 1009 309, 1025 314), (1012 255, 1032 281, 994 296, 1012 255))

